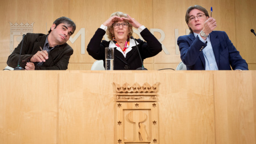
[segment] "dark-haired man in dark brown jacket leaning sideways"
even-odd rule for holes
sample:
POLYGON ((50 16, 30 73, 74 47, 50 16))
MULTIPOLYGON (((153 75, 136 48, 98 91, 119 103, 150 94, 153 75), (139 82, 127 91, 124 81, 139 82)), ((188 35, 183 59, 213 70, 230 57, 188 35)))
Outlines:
MULTIPOLYGON (((20 67, 26 70, 66 70, 73 49, 66 43, 76 29, 75 23, 60 17, 53 22, 48 35, 28 33, 24 38, 20 67)), ((7 65, 17 67, 21 43, 7 60, 7 65)))

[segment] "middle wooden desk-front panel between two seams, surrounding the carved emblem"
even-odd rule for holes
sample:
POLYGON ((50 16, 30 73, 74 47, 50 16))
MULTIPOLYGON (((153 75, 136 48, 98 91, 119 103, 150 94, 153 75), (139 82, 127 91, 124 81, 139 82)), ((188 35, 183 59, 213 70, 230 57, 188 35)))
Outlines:
POLYGON ((60 74, 60 143, 115 143, 113 82, 161 83, 158 92, 161 143, 215 143, 213 75, 112 74, 112 71, 60 74))

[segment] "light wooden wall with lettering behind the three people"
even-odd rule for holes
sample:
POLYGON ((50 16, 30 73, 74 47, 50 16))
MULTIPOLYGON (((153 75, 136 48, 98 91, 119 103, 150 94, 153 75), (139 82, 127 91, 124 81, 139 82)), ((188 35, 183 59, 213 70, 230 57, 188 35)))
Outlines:
MULTIPOLYGON (((215 30, 226 31, 229 38, 241 52, 242 57, 249 63, 250 70, 256 70, 256 37, 250 29, 256 30, 256 1, 255 0, 210 0, 210 1, 174 1, 174 0, 2 0, 0 5, 0 69, 6 66, 7 57, 10 55, 10 23, 34 23, 33 33, 46 33, 59 17, 71 18, 77 25, 78 31, 85 29, 85 49, 95 30, 107 20, 111 13, 122 11, 131 15, 148 29, 161 29, 165 39, 162 42, 170 54, 163 51, 154 58, 145 60, 145 67, 149 70, 162 68, 176 68, 180 55, 175 53, 175 33, 185 35, 188 26, 185 22, 185 13, 191 5, 202 5, 208 11, 213 7, 212 17, 217 20, 215 30)), ((154 35, 159 39, 161 35, 154 35)), ((137 35, 135 37, 138 38, 137 35)), ((81 36, 75 43, 68 43, 73 47, 69 70, 90 70, 95 61, 87 51, 81 54, 81 36)), ((18 42, 14 43, 14 47, 18 42)))

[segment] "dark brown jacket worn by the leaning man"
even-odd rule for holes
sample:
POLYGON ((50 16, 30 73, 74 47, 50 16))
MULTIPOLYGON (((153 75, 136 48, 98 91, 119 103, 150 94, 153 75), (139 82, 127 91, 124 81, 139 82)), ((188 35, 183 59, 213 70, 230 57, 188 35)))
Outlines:
MULTIPOLYGON (((27 61, 37 53, 41 51, 40 46, 43 48, 45 39, 47 35, 45 34, 32 34, 28 33, 24 38, 21 57, 20 57, 20 67, 25 68, 27 61)), ((7 65, 10 67, 17 67, 19 54, 20 54, 21 43, 14 49, 12 54, 7 60, 7 65)), ((43 66, 38 67, 35 62, 36 70, 66 70, 68 68, 68 63, 70 56, 73 54, 73 49, 67 44, 62 44, 58 47, 54 47, 49 53, 49 59, 45 60, 43 66)))

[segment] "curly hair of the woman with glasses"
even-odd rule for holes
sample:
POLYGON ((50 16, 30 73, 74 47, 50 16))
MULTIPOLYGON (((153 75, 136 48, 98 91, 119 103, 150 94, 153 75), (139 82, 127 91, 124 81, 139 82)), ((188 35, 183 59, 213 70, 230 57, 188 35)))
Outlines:
MULTIPOLYGON (((117 17, 120 17, 120 18, 122 18, 122 17, 124 17, 124 18, 129 18, 129 17, 127 17, 127 14, 126 13, 123 13, 123 12, 114 12, 114 13, 112 13, 111 15, 110 15, 110 17, 113 17, 113 16, 117 16, 117 17)), ((124 20, 125 22, 128 22, 128 21, 126 21, 126 20, 124 20)), ((115 21, 115 22, 117 22, 117 21, 115 21)), ((114 23, 115 23, 114 22, 114 23)), ((129 27, 128 27, 129 29, 130 29, 130 33, 129 33, 129 36, 131 37, 132 36, 132 34, 133 34, 133 30, 132 30, 132 24, 131 23, 129 23, 129 27)), ((107 34, 107 36, 108 36, 108 39, 109 40, 112 40, 113 39, 113 37, 112 37, 112 33, 111 33, 111 31, 113 31, 113 25, 111 25, 110 27, 108 27, 108 29, 106 30, 106 34, 107 34)), ((114 35, 114 34, 113 34, 114 35)))

